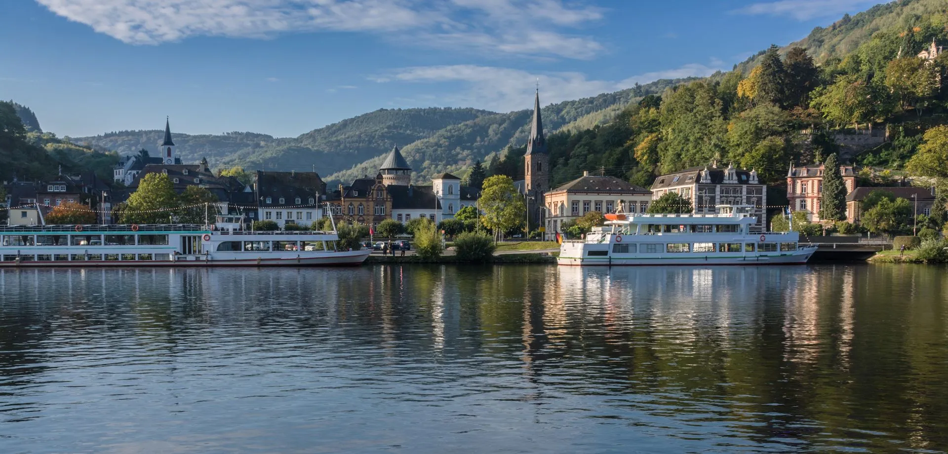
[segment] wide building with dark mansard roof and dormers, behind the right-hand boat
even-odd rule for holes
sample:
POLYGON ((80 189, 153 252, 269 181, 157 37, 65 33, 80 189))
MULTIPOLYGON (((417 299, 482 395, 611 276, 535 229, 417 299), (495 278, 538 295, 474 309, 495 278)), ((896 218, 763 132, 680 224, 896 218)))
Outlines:
POLYGON ((677 192, 690 200, 692 212, 697 214, 716 213, 719 205, 754 207, 751 212, 757 217, 757 223, 751 230, 766 230, 767 186, 755 170, 738 170, 733 165, 721 169, 715 162, 655 178, 652 198, 658 199, 668 192, 677 192))

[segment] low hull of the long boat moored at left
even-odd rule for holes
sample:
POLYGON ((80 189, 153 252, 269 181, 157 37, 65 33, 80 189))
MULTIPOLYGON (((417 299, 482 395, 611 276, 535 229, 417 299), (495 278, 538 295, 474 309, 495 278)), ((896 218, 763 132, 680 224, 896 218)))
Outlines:
POLYGON ((365 262, 372 251, 361 249, 356 251, 341 251, 330 254, 321 254, 310 257, 281 257, 281 258, 234 258, 215 259, 203 256, 181 257, 168 261, 56 261, 56 262, 0 262, 0 268, 29 268, 29 267, 56 267, 56 268, 97 268, 97 267, 180 267, 180 266, 358 266, 365 262))

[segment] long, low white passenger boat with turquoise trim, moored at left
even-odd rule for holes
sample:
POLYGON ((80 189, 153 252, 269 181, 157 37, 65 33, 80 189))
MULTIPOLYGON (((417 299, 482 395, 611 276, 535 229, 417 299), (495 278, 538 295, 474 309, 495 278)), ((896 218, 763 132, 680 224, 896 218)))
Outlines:
POLYGON ((202 225, 0 227, 0 268, 18 266, 358 265, 335 231, 249 231, 202 225))

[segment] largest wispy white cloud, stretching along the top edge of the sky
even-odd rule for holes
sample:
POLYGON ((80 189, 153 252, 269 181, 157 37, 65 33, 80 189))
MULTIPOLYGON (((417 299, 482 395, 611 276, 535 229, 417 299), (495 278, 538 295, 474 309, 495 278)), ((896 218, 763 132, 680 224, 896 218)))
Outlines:
POLYGON ((289 32, 381 34, 413 45, 588 58, 603 46, 566 33, 603 9, 566 0, 36 0, 132 45, 194 36, 270 38, 289 32))

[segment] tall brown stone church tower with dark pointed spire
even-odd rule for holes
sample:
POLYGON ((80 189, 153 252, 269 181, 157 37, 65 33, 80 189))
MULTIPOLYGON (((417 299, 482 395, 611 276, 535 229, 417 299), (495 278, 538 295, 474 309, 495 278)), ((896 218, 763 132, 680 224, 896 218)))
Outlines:
MULTIPOLYGON (((527 219, 530 230, 543 226, 543 195, 550 191, 550 154, 543 136, 543 120, 539 114, 539 89, 534 98, 534 118, 527 138, 527 154, 523 156, 523 189, 526 194, 527 219)), ((544 238, 547 235, 543 235, 544 238)))

